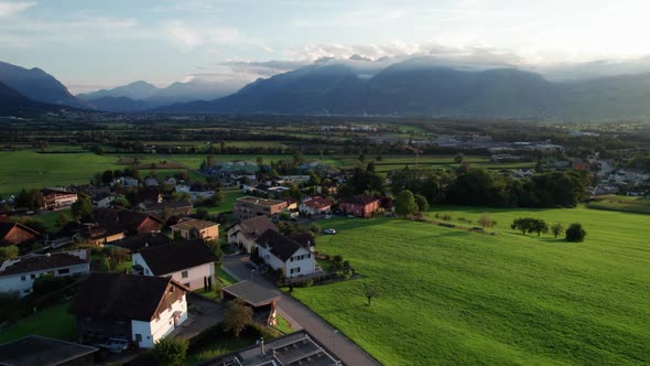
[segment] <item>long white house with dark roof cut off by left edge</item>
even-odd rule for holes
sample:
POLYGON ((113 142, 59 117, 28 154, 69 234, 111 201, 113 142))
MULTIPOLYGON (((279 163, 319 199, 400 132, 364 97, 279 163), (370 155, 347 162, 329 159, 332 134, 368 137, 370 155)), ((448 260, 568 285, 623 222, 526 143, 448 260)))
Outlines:
POLYGON ((0 292, 18 293, 21 298, 32 292, 34 281, 45 274, 54 277, 84 276, 90 271, 85 249, 29 255, 0 263, 0 292))

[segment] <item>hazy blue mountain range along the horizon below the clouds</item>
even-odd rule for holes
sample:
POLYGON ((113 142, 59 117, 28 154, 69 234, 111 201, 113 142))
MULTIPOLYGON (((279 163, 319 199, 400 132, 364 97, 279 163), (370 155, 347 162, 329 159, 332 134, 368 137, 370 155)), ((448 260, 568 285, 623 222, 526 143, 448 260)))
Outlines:
POLYGON ((75 97, 39 68, 6 63, 0 63, 0 82, 34 101, 106 111, 561 120, 650 116, 650 73, 556 82, 513 67, 449 67, 426 57, 371 73, 350 63, 315 63, 223 97, 216 97, 223 88, 198 80, 166 88, 136 82, 75 97))

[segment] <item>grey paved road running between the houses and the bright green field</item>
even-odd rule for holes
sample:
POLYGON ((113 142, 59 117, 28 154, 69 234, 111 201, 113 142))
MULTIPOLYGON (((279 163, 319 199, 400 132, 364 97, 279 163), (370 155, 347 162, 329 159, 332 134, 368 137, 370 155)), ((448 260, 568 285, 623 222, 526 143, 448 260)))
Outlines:
MULTIPOLYGON (((226 256, 223 258, 221 268, 238 280, 251 280, 251 271, 246 262, 248 256, 226 256)), ((256 283, 281 293, 275 286, 262 276, 253 273, 256 283)), ((293 329, 305 329, 312 333, 326 347, 332 349, 338 358, 349 366, 380 365, 375 358, 364 352, 348 337, 325 322, 321 316, 307 306, 289 295, 283 295, 278 303, 279 312, 284 317, 288 314, 293 329), (297 327, 295 326, 297 323, 297 327)))

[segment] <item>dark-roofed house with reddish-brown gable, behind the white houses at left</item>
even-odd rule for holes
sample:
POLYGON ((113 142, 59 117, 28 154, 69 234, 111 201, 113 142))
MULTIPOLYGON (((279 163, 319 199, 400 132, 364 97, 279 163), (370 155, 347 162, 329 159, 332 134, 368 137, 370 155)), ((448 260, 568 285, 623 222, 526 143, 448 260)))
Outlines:
POLYGON ((97 208, 93 215, 97 224, 108 228, 122 228, 129 235, 160 232, 163 225, 155 216, 129 209, 97 208))

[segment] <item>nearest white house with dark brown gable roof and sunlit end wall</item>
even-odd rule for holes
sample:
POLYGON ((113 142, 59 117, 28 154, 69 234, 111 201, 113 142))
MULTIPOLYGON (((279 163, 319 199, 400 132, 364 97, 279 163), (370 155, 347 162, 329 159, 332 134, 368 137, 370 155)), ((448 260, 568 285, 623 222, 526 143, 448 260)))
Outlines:
POLYGON ((116 337, 151 348, 187 320, 187 291, 171 278, 93 273, 69 311, 84 343, 116 337))

